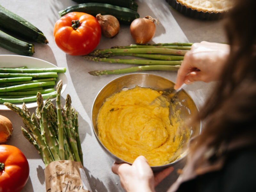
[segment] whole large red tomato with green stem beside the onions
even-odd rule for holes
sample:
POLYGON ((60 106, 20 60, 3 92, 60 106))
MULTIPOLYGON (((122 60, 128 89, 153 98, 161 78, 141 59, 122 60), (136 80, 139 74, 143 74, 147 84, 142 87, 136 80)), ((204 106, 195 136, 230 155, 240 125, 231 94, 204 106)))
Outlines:
POLYGON ((70 12, 55 23, 53 35, 57 46, 65 53, 87 55, 100 43, 101 28, 92 15, 70 12))

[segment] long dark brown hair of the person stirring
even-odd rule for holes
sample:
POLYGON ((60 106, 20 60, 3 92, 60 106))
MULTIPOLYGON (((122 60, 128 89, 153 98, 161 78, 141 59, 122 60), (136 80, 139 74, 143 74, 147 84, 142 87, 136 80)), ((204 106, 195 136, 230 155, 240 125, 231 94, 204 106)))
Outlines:
POLYGON ((199 112, 198 119, 206 126, 192 151, 205 144, 218 147, 246 132, 256 136, 255 7, 255 0, 237 1, 227 13, 230 56, 220 82, 199 112))

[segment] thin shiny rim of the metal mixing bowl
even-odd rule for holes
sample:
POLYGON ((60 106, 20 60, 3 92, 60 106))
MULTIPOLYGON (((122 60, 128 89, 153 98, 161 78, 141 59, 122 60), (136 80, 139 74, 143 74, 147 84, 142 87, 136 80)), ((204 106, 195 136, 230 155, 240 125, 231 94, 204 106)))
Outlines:
MULTIPOLYGON (((171 80, 169 80, 169 79, 167 79, 167 78, 164 78, 164 77, 158 76, 158 75, 154 75, 154 74, 151 74, 151 73, 132 73, 132 74, 126 74, 126 75, 122 75, 122 76, 116 77, 116 78, 114 78, 113 80, 109 81, 107 84, 105 84, 105 85, 100 89, 100 91, 97 93, 95 99, 93 100, 92 109, 91 109, 91 121, 92 121, 93 133, 94 133, 94 135, 95 135, 95 137, 96 137, 98 143, 100 144, 101 147, 103 147, 103 148, 108 152, 108 154, 109 154, 113 159, 118 159, 118 161, 115 160, 115 163, 127 163, 127 164, 130 164, 130 165, 132 165, 132 163, 127 162, 127 161, 125 161, 125 160, 123 160, 123 159, 117 157, 115 154, 111 153, 111 152, 103 145, 103 143, 100 141, 100 139, 99 139, 97 133, 95 132, 95 128, 97 128, 97 127, 94 128, 94 125, 93 125, 92 111, 93 111, 93 106, 94 106, 94 104, 95 104, 95 101, 96 101, 96 99, 98 98, 100 92, 101 92, 108 84, 110 84, 110 83, 112 83, 113 81, 116 81, 117 79, 122 78, 122 77, 124 77, 124 76, 133 76, 133 75, 148 75, 148 76, 161 77, 161 78, 163 78, 163 79, 165 79, 165 80, 167 80, 167 81, 170 81, 170 82, 172 82, 173 84, 175 84, 173 81, 171 81, 171 80)), ((189 95, 184 89, 183 89, 182 91, 185 92, 185 93, 188 95, 188 97, 192 100, 194 106, 196 107, 197 111, 199 111, 198 107, 196 106, 194 100, 190 97, 190 95, 189 95)), ((198 135, 201 134, 201 131, 202 131, 202 122, 201 122, 201 120, 200 120, 200 128, 199 128, 199 134, 198 134, 198 135)), ((196 135, 196 136, 197 136, 197 135, 196 135)), ((194 139, 196 136, 191 137, 189 140, 194 139)), ((188 142, 189 142, 189 141, 188 141, 188 142)), ((177 164, 177 163, 180 162, 182 159, 184 159, 184 158, 188 155, 188 153, 189 153, 189 150, 186 149, 186 150, 181 154, 181 157, 180 157, 180 158, 177 158, 175 161, 173 161, 173 162, 171 162, 171 163, 168 163, 168 164, 164 164, 164 165, 150 166, 150 167, 151 167, 151 169, 154 171, 154 170, 164 169, 164 168, 166 168, 166 167, 173 166, 174 164, 177 164), (184 155, 183 155, 183 154, 184 154, 184 155)))

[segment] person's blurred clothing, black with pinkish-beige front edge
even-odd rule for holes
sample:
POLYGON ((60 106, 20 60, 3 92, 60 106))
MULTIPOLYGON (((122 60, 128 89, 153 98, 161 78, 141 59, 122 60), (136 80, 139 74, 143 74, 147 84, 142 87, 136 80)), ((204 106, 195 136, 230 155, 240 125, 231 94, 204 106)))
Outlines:
POLYGON ((188 154, 182 174, 168 192, 256 191, 256 138, 248 133, 219 148, 188 154))

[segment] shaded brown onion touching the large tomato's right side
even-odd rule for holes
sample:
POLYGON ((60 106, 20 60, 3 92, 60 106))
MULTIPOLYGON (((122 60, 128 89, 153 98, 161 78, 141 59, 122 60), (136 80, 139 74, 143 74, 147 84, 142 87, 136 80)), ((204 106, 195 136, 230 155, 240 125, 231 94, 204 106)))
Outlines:
POLYGON ((120 29, 120 24, 116 17, 113 15, 101 15, 97 14, 96 19, 100 23, 102 35, 108 38, 117 35, 120 29))

